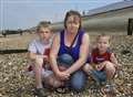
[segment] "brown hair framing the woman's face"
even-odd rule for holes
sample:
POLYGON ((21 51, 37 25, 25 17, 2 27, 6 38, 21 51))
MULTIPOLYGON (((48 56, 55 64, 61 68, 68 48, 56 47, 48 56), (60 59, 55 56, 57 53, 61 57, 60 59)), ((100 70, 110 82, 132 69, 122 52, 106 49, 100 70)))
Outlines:
POLYGON ((64 18, 64 28, 66 28, 66 20, 71 15, 78 15, 78 18, 80 19, 80 26, 79 26, 79 29, 81 29, 82 28, 81 14, 78 11, 74 11, 74 10, 70 10, 70 11, 66 12, 65 18, 64 18))

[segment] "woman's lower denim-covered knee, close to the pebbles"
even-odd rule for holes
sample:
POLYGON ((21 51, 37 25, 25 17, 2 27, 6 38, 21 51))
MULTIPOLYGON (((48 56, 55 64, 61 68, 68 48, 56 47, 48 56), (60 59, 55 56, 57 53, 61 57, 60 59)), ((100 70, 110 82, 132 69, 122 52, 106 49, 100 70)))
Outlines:
POLYGON ((79 71, 74 73, 71 77, 71 89, 73 91, 81 91, 83 90, 86 82, 86 75, 84 74, 83 71, 79 71))

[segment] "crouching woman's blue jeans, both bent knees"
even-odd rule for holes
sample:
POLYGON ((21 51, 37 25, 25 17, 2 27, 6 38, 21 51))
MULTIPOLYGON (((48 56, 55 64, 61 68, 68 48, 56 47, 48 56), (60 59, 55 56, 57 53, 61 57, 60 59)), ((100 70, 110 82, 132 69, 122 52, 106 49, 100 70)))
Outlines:
MULTIPOLYGON (((58 57, 58 63, 61 64, 61 66, 69 68, 74 63, 74 60, 69 54, 62 54, 58 57)), ((86 74, 82 71, 82 68, 80 68, 71 74, 70 79, 65 83, 65 86, 71 90, 79 93, 83 90, 86 79, 86 74)))

